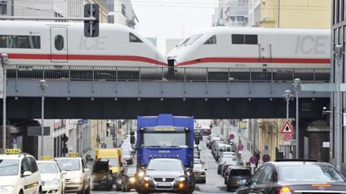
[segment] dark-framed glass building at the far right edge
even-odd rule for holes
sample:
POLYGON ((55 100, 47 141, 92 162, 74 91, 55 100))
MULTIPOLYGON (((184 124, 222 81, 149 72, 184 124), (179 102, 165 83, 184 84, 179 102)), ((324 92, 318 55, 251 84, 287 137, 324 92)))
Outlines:
MULTIPOLYGON (((335 51, 334 47, 336 45, 341 45, 343 48, 345 48, 346 43, 346 1, 345 0, 333 0, 332 1, 332 12, 331 12, 331 36, 332 36, 332 43, 331 43, 331 50, 335 51)), ((337 71, 339 69, 338 62, 336 60, 335 55, 331 55, 331 82, 336 83, 336 75, 337 71)), ((340 77, 341 83, 346 82, 345 77, 345 54, 342 54, 342 59, 340 61, 340 77)), ((345 100, 345 93, 341 94, 341 107, 340 111, 341 113, 345 113, 346 109, 346 100, 345 100)), ((331 162, 336 165, 337 164, 337 154, 341 154, 341 167, 342 172, 346 174, 346 133, 345 133, 345 127, 343 126, 343 119, 340 120, 339 125, 341 126, 341 132, 338 133, 336 129, 337 125, 337 119, 336 119, 336 95, 331 94, 331 100, 330 100, 330 110, 332 111, 330 115, 330 146, 331 150, 333 152, 330 152, 330 158, 331 162), (336 145, 336 139, 339 138, 340 145, 336 145), (336 153, 336 147, 341 146, 341 153, 336 153)))

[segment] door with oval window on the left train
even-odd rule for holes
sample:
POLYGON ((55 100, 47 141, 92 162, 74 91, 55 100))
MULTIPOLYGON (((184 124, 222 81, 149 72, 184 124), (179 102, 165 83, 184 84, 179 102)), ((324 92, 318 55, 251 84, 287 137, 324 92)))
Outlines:
POLYGON ((51 62, 67 62, 67 28, 51 27, 51 62))

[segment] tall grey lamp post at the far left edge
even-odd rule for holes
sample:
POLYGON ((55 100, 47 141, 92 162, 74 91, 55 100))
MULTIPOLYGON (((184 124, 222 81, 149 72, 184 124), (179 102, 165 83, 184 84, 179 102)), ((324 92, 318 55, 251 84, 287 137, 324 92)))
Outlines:
POLYGON ((2 66, 2 153, 6 151, 6 67, 8 63, 8 55, 1 54, 1 66, 2 66))

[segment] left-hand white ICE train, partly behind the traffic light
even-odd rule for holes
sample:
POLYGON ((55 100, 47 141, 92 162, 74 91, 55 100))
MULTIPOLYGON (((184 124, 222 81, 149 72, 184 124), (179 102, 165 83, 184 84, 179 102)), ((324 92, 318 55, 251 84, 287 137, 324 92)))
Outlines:
POLYGON ((85 37, 83 22, 0 20, 0 29, 0 54, 11 65, 167 66, 166 56, 123 25, 100 23, 98 37, 85 37))

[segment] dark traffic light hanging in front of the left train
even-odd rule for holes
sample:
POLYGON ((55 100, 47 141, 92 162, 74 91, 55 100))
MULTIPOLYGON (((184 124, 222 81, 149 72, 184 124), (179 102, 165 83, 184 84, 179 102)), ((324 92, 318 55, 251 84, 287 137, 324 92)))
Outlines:
POLYGON ((98 37, 99 36, 99 5, 98 4, 85 4, 84 18, 89 18, 89 17, 94 17, 96 20, 84 21, 84 36, 98 37))

